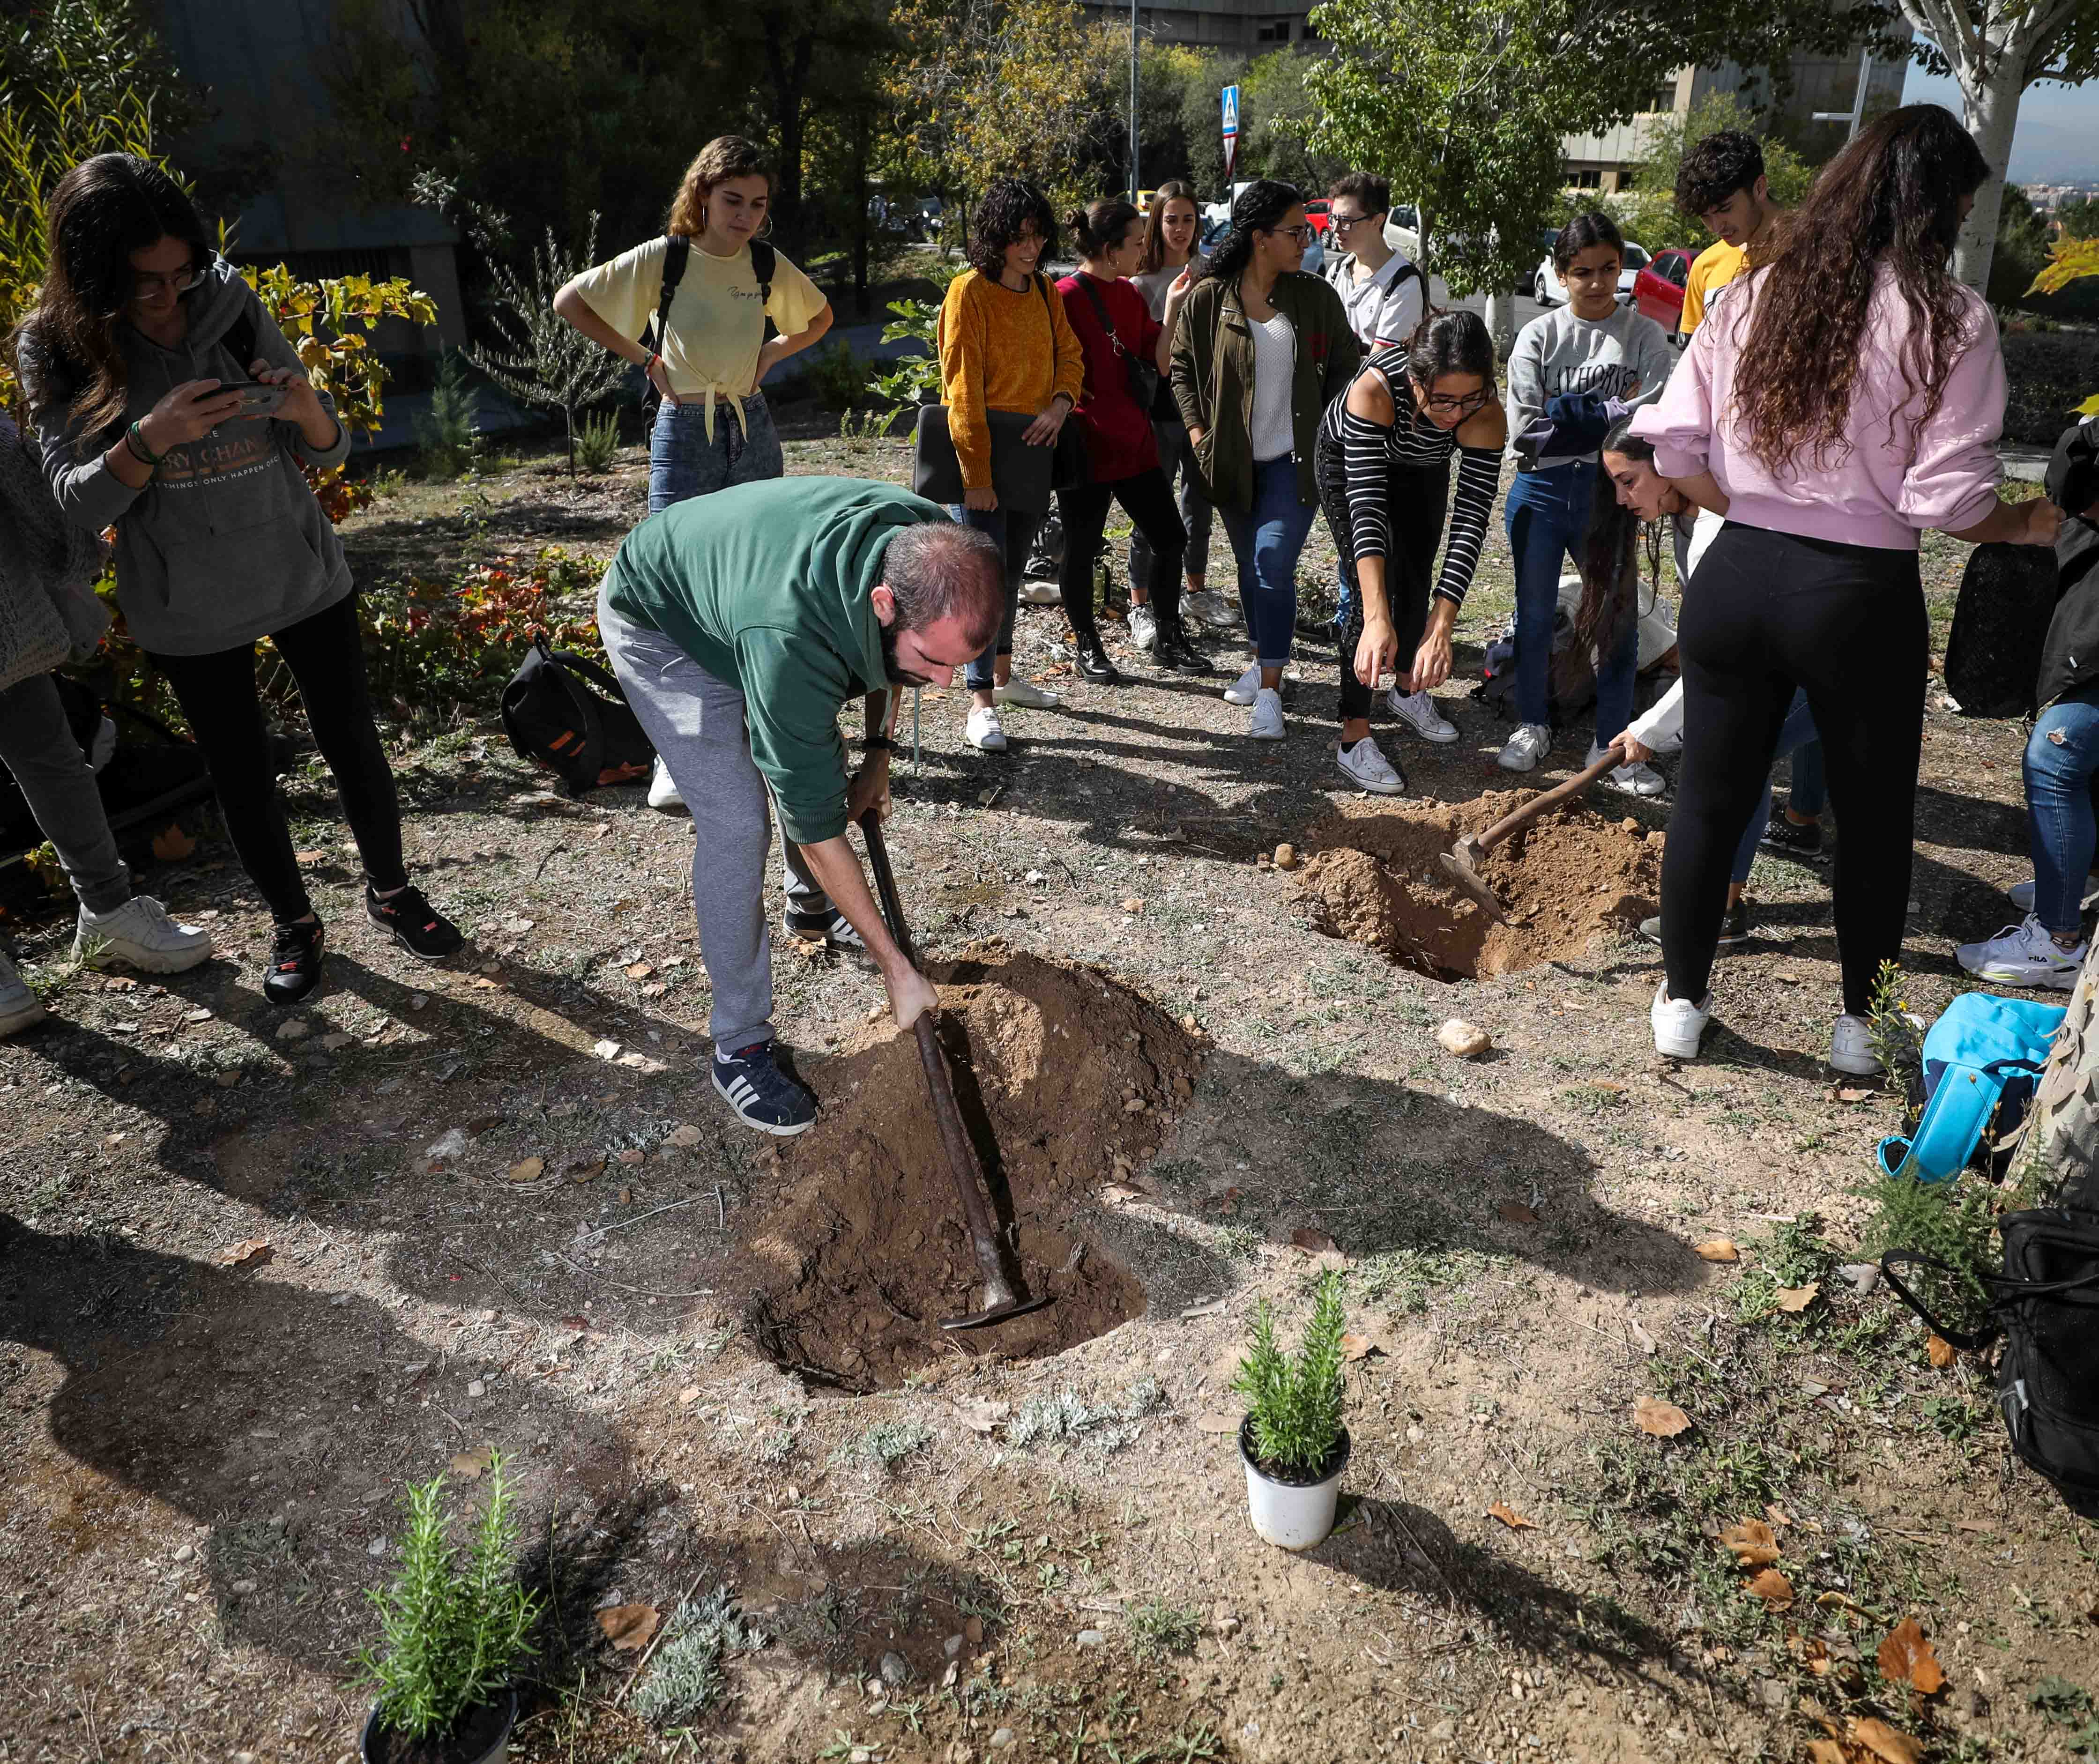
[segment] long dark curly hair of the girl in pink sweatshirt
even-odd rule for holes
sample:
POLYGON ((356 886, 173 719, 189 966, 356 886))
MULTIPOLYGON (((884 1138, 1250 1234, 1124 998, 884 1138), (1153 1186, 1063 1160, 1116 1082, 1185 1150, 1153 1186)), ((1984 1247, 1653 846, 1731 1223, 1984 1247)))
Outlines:
MULTIPOLYGON (((1929 422, 1971 340, 1969 300, 1946 266, 1960 199, 1990 174, 1975 138, 1937 105, 1889 111, 1843 149, 1780 220, 1734 369, 1734 415, 1769 472, 1805 455, 1841 459, 1858 357, 1881 271, 1893 275, 1910 336, 1902 378, 1929 422)), ((1900 401, 1908 405, 1910 401, 1900 401)), ((1889 417, 1893 438, 1893 415, 1889 417)))

